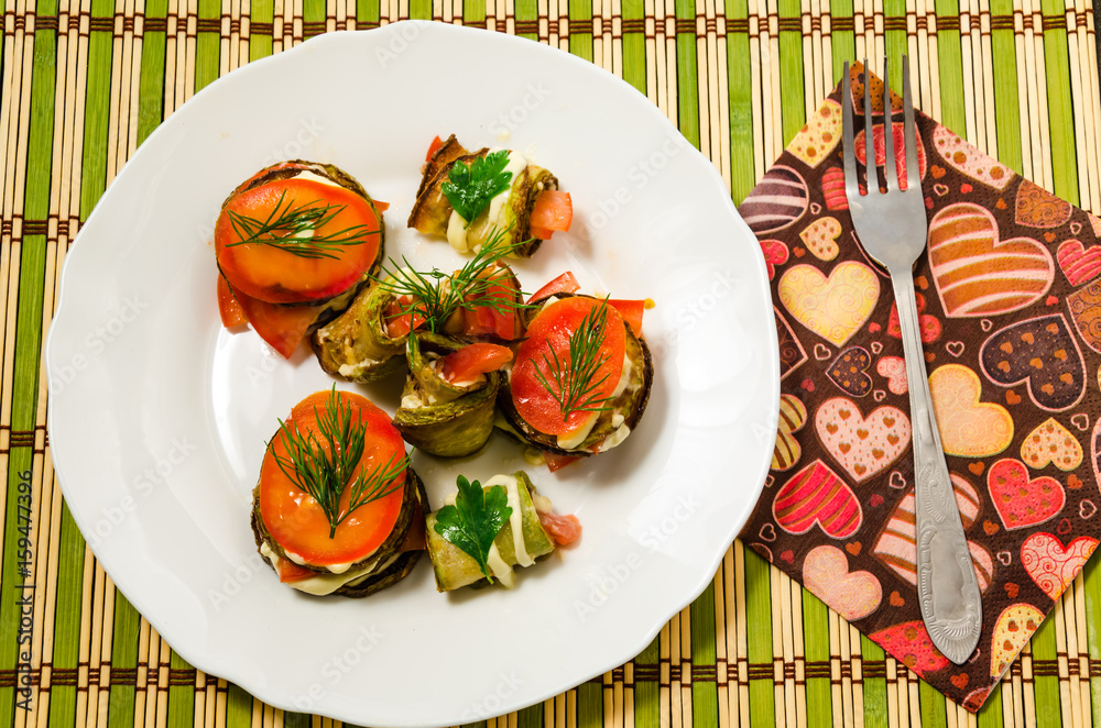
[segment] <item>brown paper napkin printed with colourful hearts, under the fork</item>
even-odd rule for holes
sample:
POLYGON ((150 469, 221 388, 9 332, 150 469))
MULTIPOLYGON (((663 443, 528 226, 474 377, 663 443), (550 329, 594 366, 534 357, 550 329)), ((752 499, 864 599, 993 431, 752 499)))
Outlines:
MULTIPOLYGON (((857 157, 871 113, 882 165, 882 82, 870 77, 865 110, 863 69, 851 74, 857 157)), ((741 538, 973 712, 1101 537, 1101 220, 917 113, 925 364, 983 592, 979 647, 955 665, 918 607, 898 315, 849 218, 840 98, 839 86, 740 208, 768 264, 782 380, 772 471, 741 538)), ((904 167, 901 109, 895 98, 904 167)))

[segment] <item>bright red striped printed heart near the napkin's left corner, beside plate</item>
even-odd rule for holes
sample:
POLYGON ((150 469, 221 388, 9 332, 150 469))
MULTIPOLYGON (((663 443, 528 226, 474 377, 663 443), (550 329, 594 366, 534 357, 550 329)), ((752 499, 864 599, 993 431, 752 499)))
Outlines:
POLYGON ((863 520, 852 488, 821 460, 809 463, 781 486, 772 512, 788 533, 806 533, 818 526, 835 539, 849 538, 863 520))

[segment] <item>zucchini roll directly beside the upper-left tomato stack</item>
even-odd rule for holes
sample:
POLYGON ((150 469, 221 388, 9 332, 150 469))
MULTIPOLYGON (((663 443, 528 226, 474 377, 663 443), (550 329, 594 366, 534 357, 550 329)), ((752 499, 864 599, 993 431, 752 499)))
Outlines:
POLYGON ((405 364, 408 333, 391 335, 386 312, 396 298, 378 280, 364 288, 348 310, 317 329, 309 343, 321 368, 351 382, 374 382, 405 364))

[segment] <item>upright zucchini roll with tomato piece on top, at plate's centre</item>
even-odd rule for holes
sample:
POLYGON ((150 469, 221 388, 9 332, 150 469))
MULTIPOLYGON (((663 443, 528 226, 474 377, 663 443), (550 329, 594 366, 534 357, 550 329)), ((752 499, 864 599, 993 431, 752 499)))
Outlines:
POLYGON ((501 366, 509 349, 418 331, 406 345, 410 374, 394 427, 424 452, 460 457, 479 450, 493 432, 501 366))

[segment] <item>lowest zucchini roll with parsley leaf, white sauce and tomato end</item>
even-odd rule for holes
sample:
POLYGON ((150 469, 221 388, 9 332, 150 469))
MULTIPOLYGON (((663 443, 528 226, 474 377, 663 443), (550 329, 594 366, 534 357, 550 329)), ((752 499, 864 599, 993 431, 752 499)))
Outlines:
POLYGON ((495 475, 484 485, 460 475, 457 485, 458 492, 425 519, 440 592, 483 580, 512 586, 514 566, 531 566, 581 534, 577 518, 553 512, 523 471, 495 475))

